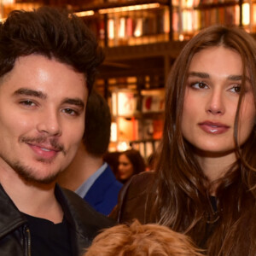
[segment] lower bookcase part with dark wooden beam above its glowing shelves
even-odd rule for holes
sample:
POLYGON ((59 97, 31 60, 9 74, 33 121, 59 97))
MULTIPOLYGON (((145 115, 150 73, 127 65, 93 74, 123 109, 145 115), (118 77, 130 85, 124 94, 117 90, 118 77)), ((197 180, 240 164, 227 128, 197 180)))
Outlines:
POLYGON ((163 125, 166 77, 185 44, 170 41, 105 48, 106 61, 100 69, 96 88, 108 98, 112 109, 115 139, 110 147, 113 151, 131 146, 147 158, 156 150, 163 125), (117 93, 119 99, 116 99, 117 93), (124 95, 122 98, 122 93, 126 98, 124 95), (113 99, 116 100, 113 102, 113 99), (127 108, 117 111, 117 102, 127 108))

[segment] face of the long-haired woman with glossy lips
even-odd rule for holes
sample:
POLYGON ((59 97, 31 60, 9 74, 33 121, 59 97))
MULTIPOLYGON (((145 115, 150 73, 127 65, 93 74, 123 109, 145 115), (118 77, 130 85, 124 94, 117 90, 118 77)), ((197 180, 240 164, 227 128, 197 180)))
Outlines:
MULTIPOLYGON (((241 75, 241 56, 234 50, 211 47, 192 58, 183 103, 182 132, 200 152, 212 155, 234 151, 241 75)), ((255 119, 253 90, 248 80, 240 113, 238 143, 242 145, 255 119)))

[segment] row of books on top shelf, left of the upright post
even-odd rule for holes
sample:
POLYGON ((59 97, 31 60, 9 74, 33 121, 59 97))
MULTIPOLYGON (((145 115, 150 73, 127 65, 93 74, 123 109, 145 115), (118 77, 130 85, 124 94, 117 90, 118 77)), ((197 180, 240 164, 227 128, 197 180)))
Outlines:
POLYGON ((105 35, 108 35, 108 40, 112 40, 113 45, 118 45, 121 40, 126 40, 129 44, 130 39, 132 44, 133 38, 170 32, 170 14, 167 8, 110 14, 107 26, 104 20, 98 17, 86 19, 85 22, 95 32, 97 38, 104 40, 105 35))

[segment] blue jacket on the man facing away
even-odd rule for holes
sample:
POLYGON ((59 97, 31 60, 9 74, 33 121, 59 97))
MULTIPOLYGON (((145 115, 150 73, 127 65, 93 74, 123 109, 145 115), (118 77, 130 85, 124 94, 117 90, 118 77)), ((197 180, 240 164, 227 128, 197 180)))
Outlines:
POLYGON ((118 202, 119 190, 123 184, 119 183, 108 166, 104 172, 92 184, 84 200, 97 212, 108 215, 118 202))

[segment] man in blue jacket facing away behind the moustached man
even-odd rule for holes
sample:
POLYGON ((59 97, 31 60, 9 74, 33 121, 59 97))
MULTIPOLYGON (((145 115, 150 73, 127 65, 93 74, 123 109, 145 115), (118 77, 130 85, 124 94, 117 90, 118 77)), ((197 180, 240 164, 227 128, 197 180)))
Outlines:
POLYGON ((108 215, 117 204, 122 183, 116 180, 103 154, 110 138, 111 115, 108 103, 96 91, 88 99, 82 143, 58 183, 76 191, 97 212, 108 215))

